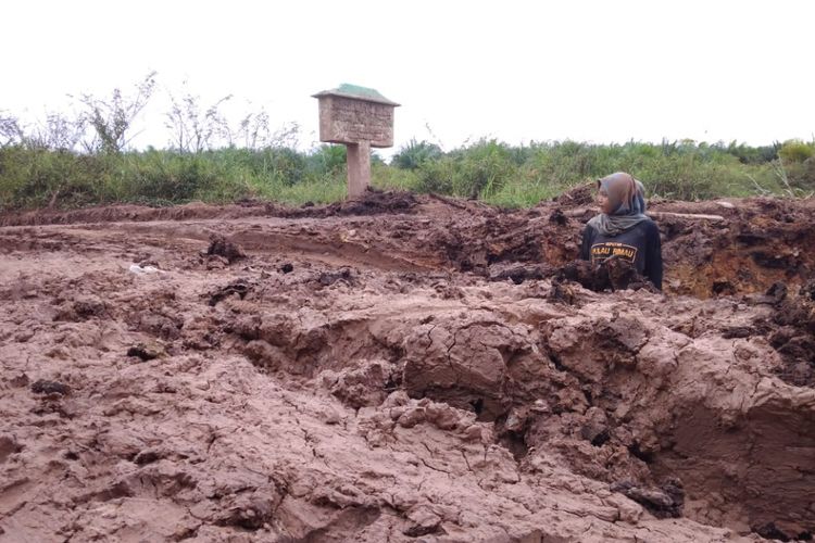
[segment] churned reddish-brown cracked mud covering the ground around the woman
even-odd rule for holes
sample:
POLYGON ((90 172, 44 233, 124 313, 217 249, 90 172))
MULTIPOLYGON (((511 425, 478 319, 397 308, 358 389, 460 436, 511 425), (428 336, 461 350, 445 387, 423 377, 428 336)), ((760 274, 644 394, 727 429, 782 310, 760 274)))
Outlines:
POLYGON ((587 204, 2 217, 0 541, 811 539, 813 203, 653 203, 667 295, 587 204))

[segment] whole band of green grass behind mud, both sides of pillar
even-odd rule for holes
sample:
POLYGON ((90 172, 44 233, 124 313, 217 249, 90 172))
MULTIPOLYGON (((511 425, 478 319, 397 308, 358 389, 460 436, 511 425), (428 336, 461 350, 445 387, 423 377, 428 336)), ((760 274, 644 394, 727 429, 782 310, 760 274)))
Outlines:
MULTIPOLYGON (((735 142, 597 146, 562 141, 512 147, 479 140, 441 152, 429 143, 412 141, 390 165, 373 161, 372 184, 379 189, 438 192, 527 207, 617 171, 641 179, 650 195, 682 200, 800 197, 815 191, 815 143, 751 148, 735 142)), ((327 203, 346 198, 344 179, 342 146, 323 146, 306 153, 286 148, 90 154, 23 143, 0 148, 0 210, 4 211, 193 200, 327 203)))

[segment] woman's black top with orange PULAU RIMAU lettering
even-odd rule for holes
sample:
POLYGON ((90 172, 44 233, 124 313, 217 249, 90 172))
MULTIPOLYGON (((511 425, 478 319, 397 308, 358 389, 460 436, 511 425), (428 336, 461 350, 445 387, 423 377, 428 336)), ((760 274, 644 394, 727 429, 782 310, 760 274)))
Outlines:
POLYGON ((651 220, 643 220, 616 236, 603 236, 586 226, 580 245, 580 258, 602 262, 610 256, 634 263, 637 272, 662 290, 662 242, 660 229, 651 220))

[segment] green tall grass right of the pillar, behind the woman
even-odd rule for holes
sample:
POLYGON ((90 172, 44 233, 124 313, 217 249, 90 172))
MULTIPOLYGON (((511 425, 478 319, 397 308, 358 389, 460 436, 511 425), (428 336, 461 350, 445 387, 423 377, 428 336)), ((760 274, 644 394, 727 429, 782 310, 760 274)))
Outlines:
MULTIPOLYGON (((649 194, 664 198, 806 195, 815 190, 815 157, 807 153, 815 154, 815 142, 749 148, 688 140, 606 146, 559 141, 511 147, 480 140, 411 169, 416 176, 412 188, 528 206, 576 184, 623 171, 641 179, 649 194), (791 148, 797 160, 783 161, 791 148)), ((394 164, 405 162, 397 159, 394 164)))

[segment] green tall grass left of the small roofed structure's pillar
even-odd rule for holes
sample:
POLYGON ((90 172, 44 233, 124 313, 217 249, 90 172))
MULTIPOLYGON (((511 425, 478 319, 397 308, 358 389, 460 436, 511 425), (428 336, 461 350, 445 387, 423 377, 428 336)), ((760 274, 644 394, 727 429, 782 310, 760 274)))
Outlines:
POLYGON ((344 197, 344 148, 328 146, 311 153, 229 148, 118 154, 14 146, 0 149, 0 209, 243 199, 331 202, 344 197))

